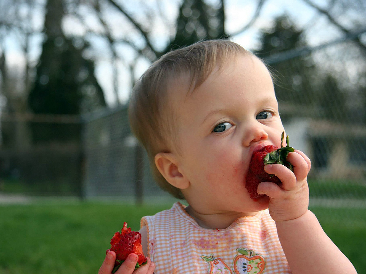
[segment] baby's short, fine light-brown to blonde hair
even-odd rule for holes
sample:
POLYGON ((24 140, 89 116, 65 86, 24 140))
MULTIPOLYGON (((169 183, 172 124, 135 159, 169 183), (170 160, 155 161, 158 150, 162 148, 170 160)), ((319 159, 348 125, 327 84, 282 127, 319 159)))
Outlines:
POLYGON ((228 40, 194 43, 164 54, 141 76, 132 90, 129 106, 132 132, 147 151, 154 179, 174 197, 183 199, 179 189, 169 184, 158 171, 154 157, 169 152, 175 139, 174 110, 169 106, 169 86, 173 80, 188 77, 187 93, 199 87, 216 66, 231 61, 238 54, 251 54, 228 40))

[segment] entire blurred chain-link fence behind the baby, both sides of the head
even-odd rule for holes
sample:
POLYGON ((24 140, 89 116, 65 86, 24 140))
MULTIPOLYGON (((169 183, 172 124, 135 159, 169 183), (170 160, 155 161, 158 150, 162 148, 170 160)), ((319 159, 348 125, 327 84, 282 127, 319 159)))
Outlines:
MULTIPOLYGON (((366 49, 360 37, 365 38, 365 31, 264 58, 275 75, 290 144, 312 161, 313 205, 366 206, 366 49)), ((1 126, 11 124, 18 131, 15 136, 27 136, 26 123, 31 121, 2 117, 1 126)), ((170 199, 154 183, 146 153, 131 135, 127 106, 73 121, 37 122, 43 126, 69 123, 81 128, 82 138, 43 146, 18 140, 23 147, 0 148, 0 192, 21 181, 33 195, 138 202, 170 199)))

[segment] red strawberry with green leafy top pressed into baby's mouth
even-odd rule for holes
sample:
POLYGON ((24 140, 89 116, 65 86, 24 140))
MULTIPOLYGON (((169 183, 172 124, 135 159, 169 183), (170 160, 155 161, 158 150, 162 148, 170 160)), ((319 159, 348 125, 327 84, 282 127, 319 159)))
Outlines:
POLYGON ((277 176, 268 174, 264 171, 264 165, 283 164, 292 171, 292 165, 286 161, 286 158, 288 153, 294 152, 294 148, 289 145, 288 136, 286 137, 286 146, 282 146, 284 134, 285 133, 283 132, 281 136, 280 148, 274 145, 266 145, 260 151, 255 151, 253 153, 245 184, 245 187, 250 194, 250 198, 258 198, 264 195, 257 193, 258 184, 261 182, 281 184, 281 181, 277 176))

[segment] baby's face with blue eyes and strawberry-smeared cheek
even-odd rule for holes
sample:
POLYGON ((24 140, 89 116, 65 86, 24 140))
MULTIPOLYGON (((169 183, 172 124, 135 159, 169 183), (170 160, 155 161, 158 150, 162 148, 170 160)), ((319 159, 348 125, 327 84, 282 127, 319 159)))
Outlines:
POLYGON ((190 181, 183 194, 190 205, 248 214, 267 208, 267 196, 254 201, 245 188, 253 152, 280 146, 284 131, 265 65, 240 55, 192 94, 173 97, 180 168, 190 181))

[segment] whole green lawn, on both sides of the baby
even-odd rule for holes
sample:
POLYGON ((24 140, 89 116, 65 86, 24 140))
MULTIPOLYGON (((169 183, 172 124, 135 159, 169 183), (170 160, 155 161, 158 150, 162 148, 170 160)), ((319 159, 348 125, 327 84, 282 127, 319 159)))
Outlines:
MULTIPOLYGON (((123 221, 139 229, 141 216, 171 205, 97 202, 0 205, 1 274, 96 274, 123 221)), ((366 209, 312 208, 324 230, 366 274, 366 209)))

